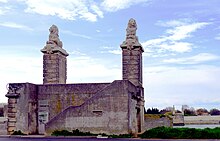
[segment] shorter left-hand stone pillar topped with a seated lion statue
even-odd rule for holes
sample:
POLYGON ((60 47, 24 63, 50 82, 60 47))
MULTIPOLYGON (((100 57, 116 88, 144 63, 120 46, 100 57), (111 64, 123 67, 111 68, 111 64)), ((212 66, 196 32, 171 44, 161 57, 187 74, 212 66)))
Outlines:
POLYGON ((59 39, 58 28, 52 25, 49 29, 49 41, 41 50, 43 55, 43 84, 65 84, 67 79, 66 57, 69 55, 59 39))

